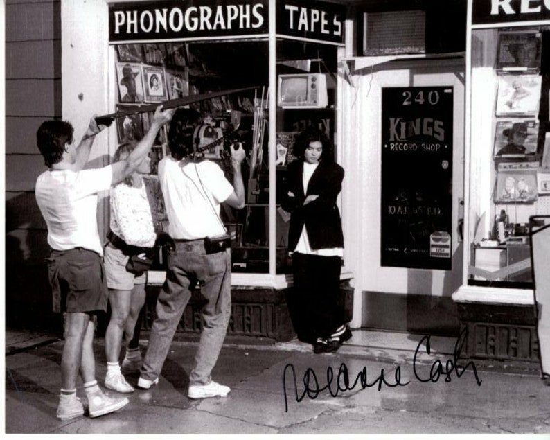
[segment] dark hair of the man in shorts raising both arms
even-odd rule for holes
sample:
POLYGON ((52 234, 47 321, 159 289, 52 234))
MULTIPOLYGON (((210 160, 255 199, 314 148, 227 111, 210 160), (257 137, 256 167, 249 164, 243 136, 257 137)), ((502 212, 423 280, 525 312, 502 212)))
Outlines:
POLYGON ((53 119, 40 125, 36 132, 36 143, 48 168, 61 161, 65 144, 73 142, 73 132, 73 125, 68 121, 53 119))

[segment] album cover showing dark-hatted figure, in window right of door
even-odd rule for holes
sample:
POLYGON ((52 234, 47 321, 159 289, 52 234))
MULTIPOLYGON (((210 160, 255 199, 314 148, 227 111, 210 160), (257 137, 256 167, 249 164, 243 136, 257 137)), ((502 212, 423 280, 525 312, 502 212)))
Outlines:
POLYGON ((506 119, 497 121, 495 157, 524 158, 537 151, 538 121, 535 119, 506 119))

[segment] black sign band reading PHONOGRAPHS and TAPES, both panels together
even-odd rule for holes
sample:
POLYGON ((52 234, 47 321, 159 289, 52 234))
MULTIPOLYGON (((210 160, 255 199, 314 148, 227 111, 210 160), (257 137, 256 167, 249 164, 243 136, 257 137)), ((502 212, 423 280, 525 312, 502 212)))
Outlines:
MULTIPOLYGON (((109 4, 109 42, 245 38, 269 33, 269 0, 139 1, 109 4)), ((276 2, 280 37, 344 45, 346 8, 276 2)))

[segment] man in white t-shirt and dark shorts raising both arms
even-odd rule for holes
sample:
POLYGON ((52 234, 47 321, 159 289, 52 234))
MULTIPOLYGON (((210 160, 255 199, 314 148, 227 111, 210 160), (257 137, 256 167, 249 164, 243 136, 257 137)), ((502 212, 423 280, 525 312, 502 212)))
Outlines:
POLYGON ((93 316, 107 311, 107 285, 103 271, 103 248, 96 223, 97 193, 121 182, 148 155, 160 127, 170 121, 174 110, 154 112, 150 130, 129 157, 115 164, 84 170, 98 126, 91 118, 82 141, 73 145, 73 127, 66 121, 45 121, 36 137, 49 168, 39 175, 35 194, 48 227, 48 275, 57 310, 66 311, 65 343, 61 358, 61 394, 57 418, 82 416, 84 407, 76 397, 76 379, 82 376, 89 415, 100 416, 128 403, 127 398, 103 394, 95 378, 93 316))

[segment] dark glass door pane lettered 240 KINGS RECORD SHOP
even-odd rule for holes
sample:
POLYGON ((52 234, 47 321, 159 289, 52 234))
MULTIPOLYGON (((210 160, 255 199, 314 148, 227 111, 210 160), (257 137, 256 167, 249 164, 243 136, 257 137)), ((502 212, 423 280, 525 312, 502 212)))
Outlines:
POLYGON ((382 89, 382 266, 451 269, 452 87, 382 89))

